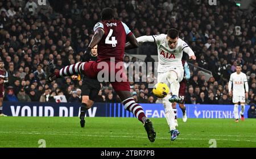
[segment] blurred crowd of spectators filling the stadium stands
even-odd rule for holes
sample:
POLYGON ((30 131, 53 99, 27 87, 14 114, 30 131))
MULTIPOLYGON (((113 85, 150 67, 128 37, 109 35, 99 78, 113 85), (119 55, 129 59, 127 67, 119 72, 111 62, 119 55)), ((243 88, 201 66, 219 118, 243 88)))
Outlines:
MULTIPOLYGON (((47 84, 46 64, 54 59, 60 69, 80 61, 104 7, 112 7, 137 37, 166 33, 168 28, 180 31, 180 38, 197 56, 190 68, 185 103, 232 104, 228 81, 236 65, 242 65, 248 77, 248 102, 256 102, 255 9, 243 11, 230 1, 209 6, 208 1, 181 0, 64 0, 47 1, 46 6, 32 0, 0 1, 0 53, 9 74, 5 101, 61 102, 65 98, 79 102, 82 81, 68 77, 47 84), (197 66, 210 70, 213 77, 206 81, 197 66)), ((150 55, 156 53, 154 44, 139 49, 139 54, 147 55, 145 61, 154 61, 150 55)), ((124 60, 129 65, 137 58, 127 56, 124 60)), ((156 77, 148 74, 147 78, 156 77)), ((101 85, 96 102, 120 102, 109 83, 101 85)), ((148 82, 130 85, 136 102, 160 102, 148 89, 148 82)))

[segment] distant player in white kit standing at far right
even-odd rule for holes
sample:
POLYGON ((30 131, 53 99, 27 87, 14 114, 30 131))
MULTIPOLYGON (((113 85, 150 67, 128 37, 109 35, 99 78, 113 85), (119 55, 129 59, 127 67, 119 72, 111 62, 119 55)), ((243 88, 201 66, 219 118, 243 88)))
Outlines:
POLYGON ((237 65, 236 71, 230 75, 230 80, 229 80, 229 95, 233 95, 233 103, 234 103, 234 118, 236 119, 235 121, 238 122, 238 103, 240 102, 241 104, 241 120, 245 120, 243 118, 243 112, 245 111, 245 99, 248 98, 248 82, 247 82, 247 77, 245 73, 241 72, 242 66, 237 65), (232 91, 232 84, 233 84, 233 91, 232 91))

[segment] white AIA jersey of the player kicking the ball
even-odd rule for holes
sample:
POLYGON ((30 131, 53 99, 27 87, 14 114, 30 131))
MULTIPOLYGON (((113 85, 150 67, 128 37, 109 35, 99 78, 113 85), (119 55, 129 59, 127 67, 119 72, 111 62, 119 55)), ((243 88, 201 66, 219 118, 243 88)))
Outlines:
POLYGON ((158 72, 167 72, 171 68, 183 68, 181 58, 183 49, 188 47, 188 44, 180 38, 177 41, 176 48, 171 49, 166 39, 166 34, 153 35, 155 43, 158 46, 158 72))

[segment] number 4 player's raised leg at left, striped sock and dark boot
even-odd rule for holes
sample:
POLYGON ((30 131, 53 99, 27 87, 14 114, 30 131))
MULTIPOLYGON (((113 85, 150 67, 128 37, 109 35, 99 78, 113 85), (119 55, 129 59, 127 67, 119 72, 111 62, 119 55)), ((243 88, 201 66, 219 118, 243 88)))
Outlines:
POLYGON ((77 62, 76 64, 65 66, 64 68, 60 69, 60 71, 55 72, 53 60, 49 60, 46 67, 46 81, 49 83, 57 78, 80 74, 82 73, 81 70, 84 64, 85 62, 77 62))

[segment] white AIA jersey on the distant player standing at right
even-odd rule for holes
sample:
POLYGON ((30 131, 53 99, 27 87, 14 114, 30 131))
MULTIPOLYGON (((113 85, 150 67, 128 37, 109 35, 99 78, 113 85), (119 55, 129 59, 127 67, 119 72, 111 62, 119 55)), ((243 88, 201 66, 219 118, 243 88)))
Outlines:
MULTIPOLYGON (((233 83, 233 94, 234 95, 245 95, 245 84, 247 83, 247 76, 245 73, 237 74, 234 72, 230 75, 229 82, 233 83)), ((230 86, 231 87, 231 86, 230 86)), ((231 88, 229 88, 230 90, 231 88)))

